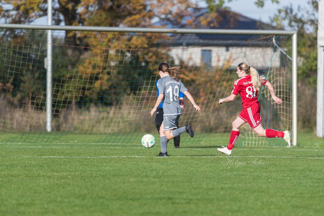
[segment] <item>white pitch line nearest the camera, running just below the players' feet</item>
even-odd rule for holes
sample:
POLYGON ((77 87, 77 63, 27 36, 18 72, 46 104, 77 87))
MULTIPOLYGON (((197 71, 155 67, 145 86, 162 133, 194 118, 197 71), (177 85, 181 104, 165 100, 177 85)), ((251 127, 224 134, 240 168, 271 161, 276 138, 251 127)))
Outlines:
MULTIPOLYGON (((3 157, 3 156, 0 156, 3 157)), ((169 157, 156 157, 156 156, 9 156, 10 158, 298 158, 298 159, 320 159, 323 160, 324 157, 304 157, 304 156, 262 156, 262 155, 244 155, 244 156, 169 156, 169 157)))

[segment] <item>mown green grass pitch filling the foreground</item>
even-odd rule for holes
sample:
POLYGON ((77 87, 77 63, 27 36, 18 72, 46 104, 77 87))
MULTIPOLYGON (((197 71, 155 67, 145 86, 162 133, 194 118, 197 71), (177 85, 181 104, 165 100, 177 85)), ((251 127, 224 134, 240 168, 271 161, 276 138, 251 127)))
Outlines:
POLYGON ((323 139, 303 133, 296 147, 236 146, 225 156, 216 148, 228 136, 171 142, 167 158, 140 138, 1 142, 0 215, 323 215, 323 139))

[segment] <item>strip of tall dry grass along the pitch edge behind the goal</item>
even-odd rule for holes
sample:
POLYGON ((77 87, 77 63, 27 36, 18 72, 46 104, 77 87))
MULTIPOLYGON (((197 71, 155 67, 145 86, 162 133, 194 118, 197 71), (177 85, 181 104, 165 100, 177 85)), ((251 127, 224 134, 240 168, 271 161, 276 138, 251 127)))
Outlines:
MULTIPOLYGON (((276 86, 278 87, 278 86, 276 86)), ((206 86, 213 88, 213 86, 206 86)), ((215 88, 217 89, 217 88, 215 88)), ((191 91, 191 90, 190 90, 191 91)), ((202 95, 202 91, 193 92, 197 98, 202 112, 196 112, 188 100, 185 100, 185 110, 179 120, 179 126, 194 123, 195 130, 203 132, 229 132, 231 122, 241 111, 241 99, 237 97, 231 103, 218 105, 218 99, 226 95, 215 92, 213 97, 202 95), (202 100, 203 98, 203 100, 202 100)), ((287 98, 287 90, 280 91, 278 97, 287 98)), ((223 93, 225 94, 225 93, 223 93)), ((285 125, 278 126, 278 119, 287 118, 289 107, 272 104, 270 94, 265 91, 261 101, 262 124, 274 129, 285 129, 285 125), (262 108, 264 106, 265 108, 262 108), (269 108, 271 107, 271 108, 269 108), (275 114, 268 114, 268 109, 276 110, 275 114), (279 127, 279 128, 277 128, 279 127)), ((289 93, 290 94, 290 93, 289 93)), ((0 95, 0 131, 12 133, 21 131, 46 131, 46 113, 36 108, 17 108, 10 103, 8 96, 0 95)), ((156 102, 156 92, 143 91, 137 95, 125 96, 124 100, 116 106, 91 106, 88 109, 73 109, 67 106, 60 110, 57 117, 52 119, 54 131, 82 132, 82 133, 109 133, 109 132, 154 132, 155 115, 151 117, 150 111, 156 102)), ((289 115, 288 115, 289 116, 289 115)), ((290 118, 290 117, 288 117, 290 118)), ((316 90, 301 83, 298 84, 298 129, 315 130, 316 127, 316 90)), ((287 122, 291 119, 286 119, 287 122)), ((279 124, 281 121, 279 120, 279 124)), ((286 129, 285 129, 286 130, 286 129)))

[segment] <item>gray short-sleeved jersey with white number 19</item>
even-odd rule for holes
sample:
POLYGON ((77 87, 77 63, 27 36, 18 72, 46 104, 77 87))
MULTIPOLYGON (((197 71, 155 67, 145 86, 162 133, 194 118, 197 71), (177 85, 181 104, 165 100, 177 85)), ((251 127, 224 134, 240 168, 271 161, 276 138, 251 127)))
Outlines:
POLYGON ((176 81, 170 76, 165 76, 157 81, 157 88, 160 94, 164 94, 163 116, 181 115, 182 112, 178 101, 179 91, 185 92, 188 90, 182 82, 180 80, 176 81))

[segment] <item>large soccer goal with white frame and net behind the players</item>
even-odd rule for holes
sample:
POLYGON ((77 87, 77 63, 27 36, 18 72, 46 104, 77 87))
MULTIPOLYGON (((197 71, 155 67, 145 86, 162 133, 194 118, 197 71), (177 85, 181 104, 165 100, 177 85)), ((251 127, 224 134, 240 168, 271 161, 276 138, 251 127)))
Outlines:
MULTIPOLYGON (((213 134, 229 137, 241 99, 222 106, 218 100, 230 95, 236 67, 246 62, 283 99, 275 104, 267 89, 260 90, 262 125, 291 131, 297 144, 295 31, 12 24, 0 29, 1 142, 55 142, 75 134, 100 143, 140 143, 146 133, 158 139, 150 110, 157 98, 157 67, 167 62, 180 66, 179 78, 202 108, 197 113, 184 99, 179 126, 192 123, 195 137, 183 135, 181 143, 226 145, 213 134), (49 32, 52 62, 46 57, 49 32)), ((237 144, 286 143, 259 138, 245 124, 237 144)))

